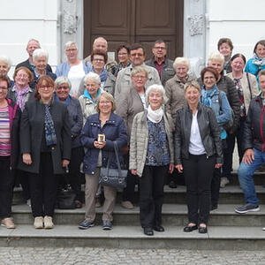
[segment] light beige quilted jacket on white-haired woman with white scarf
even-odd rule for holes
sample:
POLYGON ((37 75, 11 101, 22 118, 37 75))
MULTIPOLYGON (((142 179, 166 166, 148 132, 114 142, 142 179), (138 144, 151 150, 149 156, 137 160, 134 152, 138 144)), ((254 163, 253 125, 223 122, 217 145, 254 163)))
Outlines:
MULTIPOLYGON (((169 114, 163 114, 165 130, 169 141, 170 163, 174 163, 174 146, 172 135, 172 120, 169 114)), ((141 177, 148 154, 148 122, 147 110, 138 113, 133 119, 130 141, 130 170, 136 170, 141 177)))

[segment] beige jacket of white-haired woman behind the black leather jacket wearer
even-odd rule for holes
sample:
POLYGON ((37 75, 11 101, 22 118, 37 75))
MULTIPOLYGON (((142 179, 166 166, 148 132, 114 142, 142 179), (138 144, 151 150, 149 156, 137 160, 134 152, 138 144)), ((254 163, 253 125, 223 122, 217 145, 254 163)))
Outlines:
MULTIPOLYGON (((195 79, 193 76, 189 76, 187 82, 195 79)), ((173 78, 169 79, 165 84, 165 94, 168 98, 168 101, 165 104, 165 110, 170 113, 173 122, 176 122, 177 110, 181 109, 186 102, 184 95, 184 86, 185 83, 181 82, 178 79, 178 76, 175 75, 173 78)))

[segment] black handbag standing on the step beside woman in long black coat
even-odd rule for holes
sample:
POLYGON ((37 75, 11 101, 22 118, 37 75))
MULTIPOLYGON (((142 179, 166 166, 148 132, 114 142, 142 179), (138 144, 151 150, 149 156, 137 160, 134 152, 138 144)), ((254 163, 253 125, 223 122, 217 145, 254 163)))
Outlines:
POLYGON ((75 208, 75 193, 69 185, 68 178, 64 175, 66 186, 61 188, 57 193, 57 208, 72 209, 75 208))

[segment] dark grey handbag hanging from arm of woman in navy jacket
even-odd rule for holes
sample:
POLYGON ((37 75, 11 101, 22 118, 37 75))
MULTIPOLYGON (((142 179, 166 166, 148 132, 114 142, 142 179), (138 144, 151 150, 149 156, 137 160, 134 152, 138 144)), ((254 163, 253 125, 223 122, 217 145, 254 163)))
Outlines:
POLYGON ((114 141, 114 151, 117 161, 117 169, 110 169, 110 156, 108 159, 107 167, 101 168, 99 177, 99 184, 102 186, 113 186, 117 189, 123 189, 126 186, 126 178, 128 170, 122 170, 118 158, 117 142, 114 141))

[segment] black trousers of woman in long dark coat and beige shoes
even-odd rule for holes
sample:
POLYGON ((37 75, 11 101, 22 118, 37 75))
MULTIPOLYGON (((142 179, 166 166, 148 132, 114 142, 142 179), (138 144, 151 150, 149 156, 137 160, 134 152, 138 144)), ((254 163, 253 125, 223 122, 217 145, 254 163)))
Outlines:
POLYGON ((53 173, 51 154, 41 154, 39 174, 28 173, 33 216, 53 216, 60 175, 53 173))

